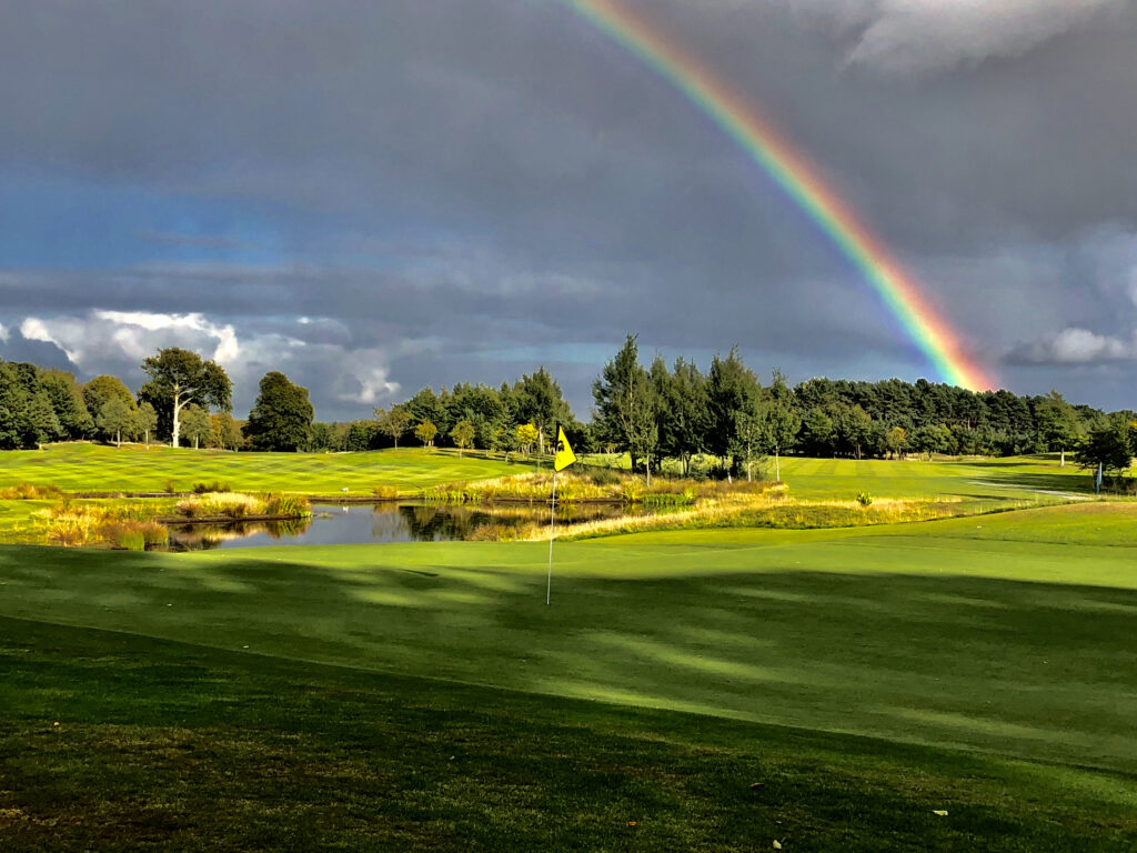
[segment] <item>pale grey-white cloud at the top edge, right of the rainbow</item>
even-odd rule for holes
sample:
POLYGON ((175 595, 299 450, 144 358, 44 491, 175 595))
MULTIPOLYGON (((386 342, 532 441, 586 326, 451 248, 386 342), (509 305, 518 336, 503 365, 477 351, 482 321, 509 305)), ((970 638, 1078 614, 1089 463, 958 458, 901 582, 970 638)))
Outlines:
POLYGON ((792 0, 850 41, 847 59, 904 74, 1020 56, 1130 0, 792 0))

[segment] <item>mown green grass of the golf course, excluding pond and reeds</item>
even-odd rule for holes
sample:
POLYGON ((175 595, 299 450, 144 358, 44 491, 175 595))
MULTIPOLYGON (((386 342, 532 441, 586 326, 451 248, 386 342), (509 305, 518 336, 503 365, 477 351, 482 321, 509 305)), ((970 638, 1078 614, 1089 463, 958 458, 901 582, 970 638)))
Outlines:
MULTIPOLYGON (((0 488, 529 470, 60 445, 0 488)), ((782 477, 979 514, 563 541, 550 606, 543 543, 0 547, 0 846, 1132 850, 1137 504, 1045 456, 782 477)))

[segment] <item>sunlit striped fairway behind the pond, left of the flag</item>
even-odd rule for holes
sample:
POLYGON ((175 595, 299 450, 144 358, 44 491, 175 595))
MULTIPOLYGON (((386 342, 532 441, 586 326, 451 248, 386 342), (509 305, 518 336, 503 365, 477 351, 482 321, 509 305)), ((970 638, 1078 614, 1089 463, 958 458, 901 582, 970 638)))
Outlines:
POLYGON ((49 445, 43 450, 0 452, 0 489, 52 483, 72 492, 192 491, 223 483, 235 491, 373 496, 375 488, 416 492, 454 481, 489 479, 529 470, 524 463, 457 457, 420 449, 354 454, 258 454, 169 447, 49 445), (172 488, 168 488, 172 487, 172 488))

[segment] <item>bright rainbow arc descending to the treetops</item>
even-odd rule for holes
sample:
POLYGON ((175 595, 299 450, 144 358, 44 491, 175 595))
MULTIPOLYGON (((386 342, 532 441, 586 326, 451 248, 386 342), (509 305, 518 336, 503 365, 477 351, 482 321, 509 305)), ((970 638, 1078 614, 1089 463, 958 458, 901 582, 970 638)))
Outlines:
POLYGON ((616 0, 563 2, 654 68, 735 140, 860 271, 944 382, 977 391, 995 387, 883 242, 739 91, 616 0))

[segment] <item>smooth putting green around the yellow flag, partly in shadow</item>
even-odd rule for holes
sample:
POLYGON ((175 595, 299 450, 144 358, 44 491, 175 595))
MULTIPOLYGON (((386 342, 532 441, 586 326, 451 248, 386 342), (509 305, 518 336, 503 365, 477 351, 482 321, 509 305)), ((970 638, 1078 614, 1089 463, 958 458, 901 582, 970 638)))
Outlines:
POLYGON ((563 544, 551 607, 541 544, 8 547, 0 615, 1137 772, 1137 505, 1035 512, 563 544))

